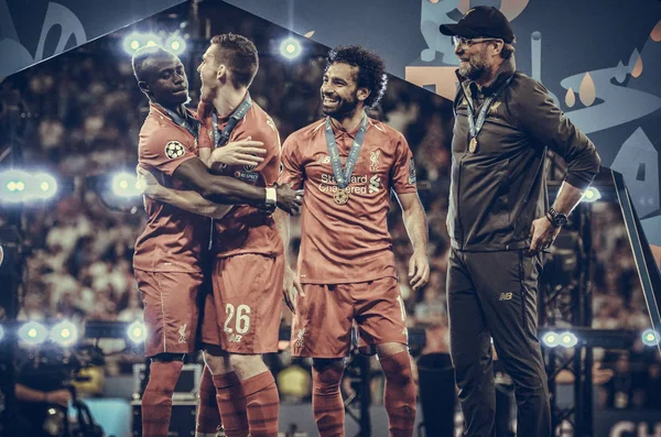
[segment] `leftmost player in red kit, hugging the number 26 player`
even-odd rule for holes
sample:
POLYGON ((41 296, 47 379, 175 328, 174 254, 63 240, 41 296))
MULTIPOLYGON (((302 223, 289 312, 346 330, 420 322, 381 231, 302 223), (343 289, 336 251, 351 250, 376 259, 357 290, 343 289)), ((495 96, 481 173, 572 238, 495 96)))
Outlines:
MULTIPOLYGON (((188 100, 187 79, 178 57, 160 47, 147 47, 134 54, 132 64, 138 85, 150 101, 150 113, 140 131, 139 166, 143 173, 152 178, 154 173, 161 184, 183 196, 187 187, 203 193, 204 197, 197 195, 196 199, 198 212, 210 217, 224 217, 227 207, 208 199, 263 208, 278 204, 286 211, 297 210, 300 195, 289 187, 256 187, 209 173, 198 157, 199 123, 184 106, 188 100)), ((229 150, 236 153, 207 151, 209 162, 242 163, 243 145, 252 150, 261 143, 248 142, 238 149, 235 144, 229 150)), ((249 159, 248 164, 260 161, 249 159)), ((145 209, 148 222, 133 256, 149 332, 145 356, 151 358, 150 380, 142 397, 142 435, 164 437, 183 358, 195 350, 197 294, 209 226, 202 216, 153 198, 145 198, 145 209)))

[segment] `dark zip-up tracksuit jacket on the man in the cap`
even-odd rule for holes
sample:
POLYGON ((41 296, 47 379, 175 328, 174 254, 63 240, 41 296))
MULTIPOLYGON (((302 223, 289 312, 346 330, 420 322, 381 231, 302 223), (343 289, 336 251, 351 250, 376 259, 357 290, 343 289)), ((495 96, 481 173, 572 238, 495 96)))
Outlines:
POLYGON ((464 86, 454 101, 448 210, 456 250, 530 245, 532 221, 549 209, 546 148, 564 159, 565 181, 575 187, 586 188, 599 171, 600 159, 592 141, 555 106, 544 86, 514 68, 513 59, 506 61, 496 81, 481 91, 457 74, 464 86), (491 103, 477 136, 478 148, 470 153, 466 99, 473 99, 477 121, 485 98, 512 75, 510 85, 491 103))

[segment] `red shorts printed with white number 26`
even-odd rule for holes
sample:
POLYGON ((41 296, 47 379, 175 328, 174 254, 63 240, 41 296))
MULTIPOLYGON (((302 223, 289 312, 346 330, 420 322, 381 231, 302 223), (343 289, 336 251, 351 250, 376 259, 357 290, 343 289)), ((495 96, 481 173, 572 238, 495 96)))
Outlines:
POLYGON ((214 266, 220 346, 230 353, 278 351, 284 256, 240 254, 214 266))

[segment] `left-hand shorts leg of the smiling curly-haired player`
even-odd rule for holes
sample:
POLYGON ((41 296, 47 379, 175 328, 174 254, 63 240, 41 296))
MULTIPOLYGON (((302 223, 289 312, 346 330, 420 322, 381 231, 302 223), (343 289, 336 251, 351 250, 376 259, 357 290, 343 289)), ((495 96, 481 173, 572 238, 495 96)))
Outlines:
POLYGON ((292 356, 344 358, 349 353, 354 303, 350 284, 302 284, 292 320, 292 356))

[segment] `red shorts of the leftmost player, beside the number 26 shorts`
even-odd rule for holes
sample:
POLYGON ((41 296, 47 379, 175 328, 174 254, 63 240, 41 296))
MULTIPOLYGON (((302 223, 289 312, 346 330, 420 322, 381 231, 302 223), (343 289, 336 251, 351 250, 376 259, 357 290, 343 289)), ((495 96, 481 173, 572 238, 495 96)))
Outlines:
POLYGON ((148 331, 144 354, 193 352, 202 273, 136 270, 136 280, 142 295, 148 331))

